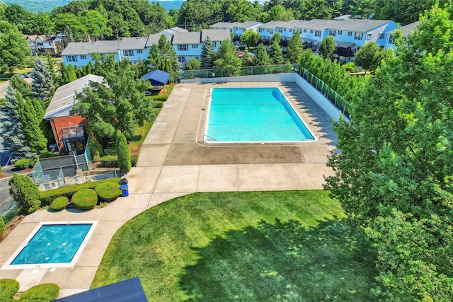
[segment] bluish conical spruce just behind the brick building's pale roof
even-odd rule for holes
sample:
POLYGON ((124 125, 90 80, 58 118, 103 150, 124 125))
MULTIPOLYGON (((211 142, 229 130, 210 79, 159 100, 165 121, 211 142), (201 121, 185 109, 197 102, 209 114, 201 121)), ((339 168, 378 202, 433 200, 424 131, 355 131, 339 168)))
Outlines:
POLYGON ((45 102, 51 100, 55 91, 52 74, 50 74, 49 69, 42 64, 39 58, 35 60, 35 68, 33 68, 31 73, 31 79, 33 80, 31 83, 33 98, 38 98, 38 100, 45 102))

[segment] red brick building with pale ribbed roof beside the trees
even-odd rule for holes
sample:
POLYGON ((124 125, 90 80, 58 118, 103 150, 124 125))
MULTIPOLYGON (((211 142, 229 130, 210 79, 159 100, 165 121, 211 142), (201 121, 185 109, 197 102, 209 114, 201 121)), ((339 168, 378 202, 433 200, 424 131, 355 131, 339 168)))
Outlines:
POLYGON ((86 149, 85 131, 88 127, 88 120, 80 115, 71 115, 70 112, 76 103, 76 94, 88 86, 91 81, 103 83, 104 78, 88 74, 60 86, 47 107, 43 119, 50 121, 60 154, 76 153, 76 155, 80 155, 86 149))

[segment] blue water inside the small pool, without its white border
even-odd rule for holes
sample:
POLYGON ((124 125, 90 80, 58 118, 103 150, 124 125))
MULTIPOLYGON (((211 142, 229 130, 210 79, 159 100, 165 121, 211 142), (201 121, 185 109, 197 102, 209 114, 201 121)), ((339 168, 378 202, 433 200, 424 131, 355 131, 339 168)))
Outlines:
POLYGON ((11 265, 69 263, 91 226, 91 223, 43 225, 11 265))

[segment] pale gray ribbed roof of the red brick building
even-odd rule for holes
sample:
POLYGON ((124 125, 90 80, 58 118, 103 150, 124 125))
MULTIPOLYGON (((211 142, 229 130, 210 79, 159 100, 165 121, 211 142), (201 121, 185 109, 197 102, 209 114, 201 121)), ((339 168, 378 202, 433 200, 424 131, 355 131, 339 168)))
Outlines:
POLYGON ((57 88, 49 107, 47 107, 44 119, 49 120, 51 117, 69 116, 72 106, 76 103, 76 93, 81 92, 91 81, 102 83, 104 78, 94 74, 87 74, 76 81, 57 88))

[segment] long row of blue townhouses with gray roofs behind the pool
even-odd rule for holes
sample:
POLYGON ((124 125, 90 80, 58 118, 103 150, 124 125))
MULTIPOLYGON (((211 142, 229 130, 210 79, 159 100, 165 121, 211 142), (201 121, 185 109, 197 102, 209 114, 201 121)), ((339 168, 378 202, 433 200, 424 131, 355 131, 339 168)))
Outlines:
MULTIPOLYGON (((418 23, 406 25, 401 30, 403 35, 418 23)), ((149 35, 148 37, 124 37, 122 40, 97 41, 97 42, 72 42, 62 52, 63 62, 75 66, 84 66, 93 62, 92 53, 115 55, 115 60, 120 61, 127 57, 132 63, 145 60, 148 57, 151 45, 157 43, 161 35, 165 35, 171 42, 178 55, 181 66, 189 59, 200 59, 202 43, 206 37, 214 43, 214 51, 218 50, 220 43, 226 39, 233 39, 240 44, 241 35, 246 30, 253 30, 260 35, 260 42, 268 45, 274 33, 280 33, 282 48, 285 50, 287 42, 299 32, 300 38, 306 48, 316 52, 319 44, 325 37, 332 36, 335 41, 336 55, 345 62, 351 61, 357 50, 368 42, 376 42, 382 48, 394 48, 392 35, 398 24, 389 20, 362 20, 349 18, 336 18, 334 20, 313 19, 310 21, 270 21, 260 22, 219 22, 210 26, 208 30, 189 32, 183 28, 171 28, 149 35)))

